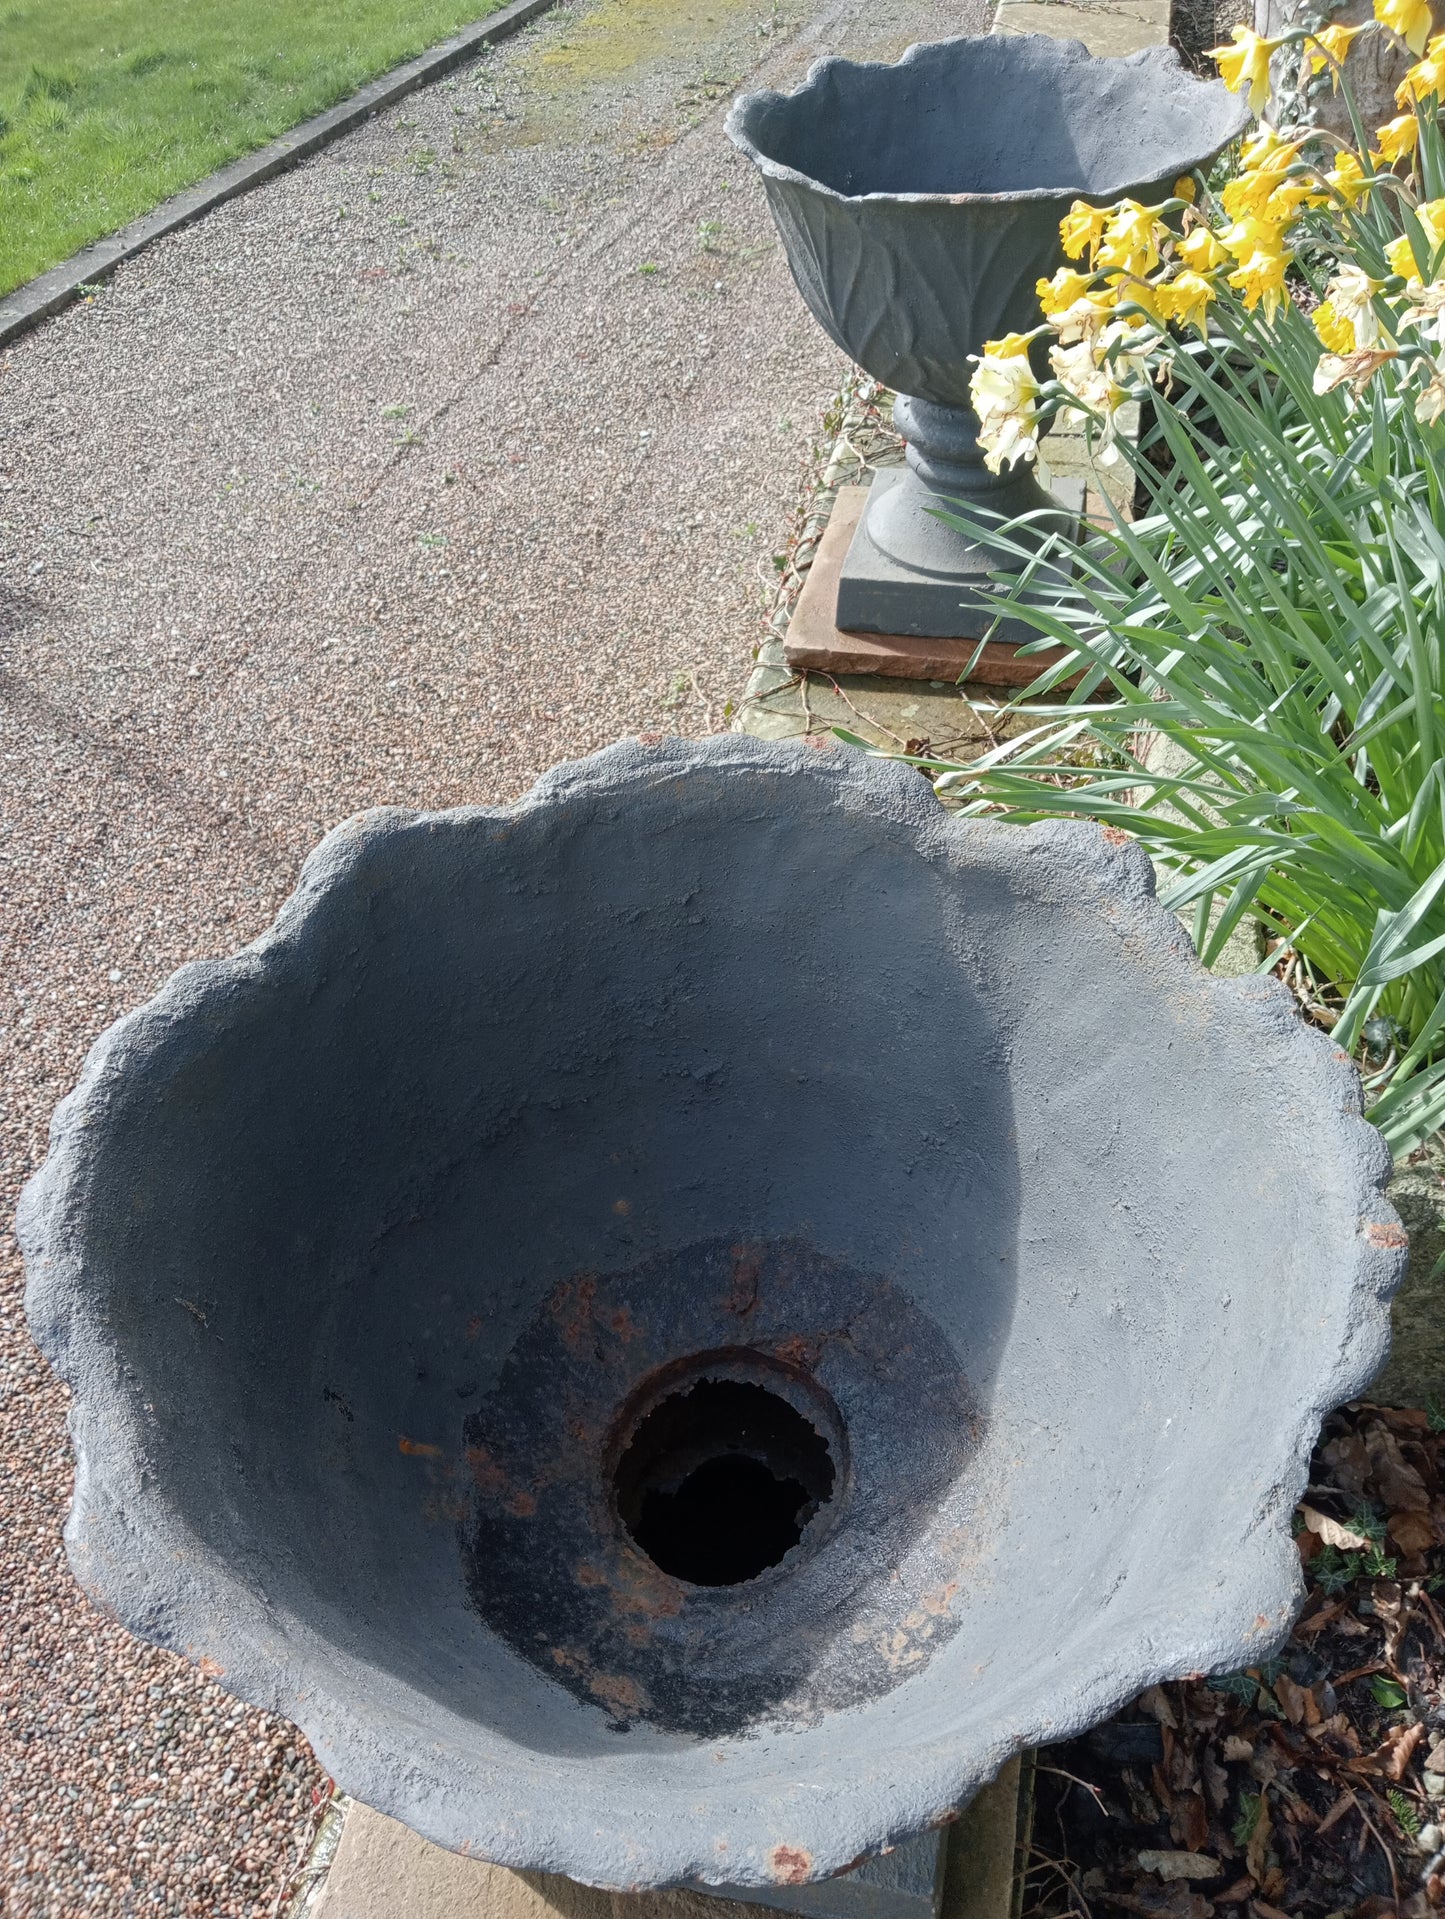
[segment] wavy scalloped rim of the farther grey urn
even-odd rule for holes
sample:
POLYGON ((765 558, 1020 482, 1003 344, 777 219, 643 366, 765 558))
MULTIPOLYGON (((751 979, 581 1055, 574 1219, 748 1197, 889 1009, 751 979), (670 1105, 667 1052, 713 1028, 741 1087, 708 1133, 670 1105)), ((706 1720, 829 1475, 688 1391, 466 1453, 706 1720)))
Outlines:
MULTIPOLYGON (((1009 203, 1029 203, 1029 201, 1048 201, 1063 198, 1082 198, 1098 203, 1107 203, 1119 200, 1130 188, 1138 188, 1138 173, 1119 177, 1105 186, 1027 186, 1027 188, 1007 188, 1002 192, 869 192, 869 194, 842 194, 835 186, 827 186, 814 175, 802 173, 798 167, 791 167, 787 161, 773 159, 766 154, 752 136, 750 123, 758 117, 764 107, 773 102, 787 102, 789 106, 798 104, 806 107, 810 96, 821 92, 825 81, 835 77, 839 69, 846 69, 850 75, 871 75, 871 73, 896 73, 898 67, 917 65, 931 58, 946 58, 952 54, 956 59, 965 61, 973 46, 988 44, 994 48, 1007 48, 1006 58, 1017 58, 1023 61, 1030 56, 1042 56, 1044 59, 1054 59, 1061 69, 1078 65, 1098 65, 1113 69, 1134 69, 1140 75, 1151 77, 1157 84, 1173 86, 1180 94, 1186 90, 1194 92, 1199 100, 1205 94, 1217 102, 1220 113, 1220 125, 1217 132, 1199 134, 1194 142, 1180 142, 1176 154, 1167 155, 1157 175, 1151 178, 1165 178, 1169 175, 1190 173, 1194 167, 1201 167, 1211 161, 1230 140, 1238 138, 1245 127, 1251 123, 1249 107, 1244 100, 1236 100, 1220 81, 1205 81, 1190 73, 1173 46, 1146 46, 1134 54, 1105 56, 1090 54, 1082 40, 1055 38, 1048 33, 1017 33, 1017 35, 959 35, 950 40, 917 40, 910 46, 896 61, 887 59, 846 59, 839 54, 827 54, 816 59, 808 69, 806 79, 793 92, 781 92, 777 88, 756 88, 754 92, 739 94, 727 111, 723 121, 723 132, 733 142, 733 146, 746 154, 746 157, 771 180, 785 180, 791 186, 804 186, 825 200, 837 200, 841 205, 873 205, 881 201, 892 201, 898 205, 954 205, 954 207, 998 207, 1009 203)), ((1188 94, 1186 94, 1188 98, 1188 94)))

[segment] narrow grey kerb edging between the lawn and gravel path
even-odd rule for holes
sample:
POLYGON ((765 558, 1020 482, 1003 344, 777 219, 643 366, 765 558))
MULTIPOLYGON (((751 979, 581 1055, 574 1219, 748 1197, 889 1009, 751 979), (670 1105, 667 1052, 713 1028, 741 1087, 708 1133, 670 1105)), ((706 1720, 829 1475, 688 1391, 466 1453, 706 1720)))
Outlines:
POLYGON ((393 67, 376 81, 368 81, 349 100, 342 100, 340 106, 317 113, 315 119, 301 121, 299 127, 292 127, 290 132, 284 132, 255 154, 232 159, 196 186, 188 186, 171 200, 163 200, 154 213, 130 221, 129 226, 109 234, 106 240, 96 240, 92 246, 81 248, 79 253, 61 261, 59 267, 52 267, 50 272, 42 272, 6 299, 0 299, 0 347, 29 332, 31 326, 38 326, 52 313, 59 313, 83 288, 109 278, 119 265, 134 259, 154 240, 161 240, 180 226, 190 226, 192 221, 201 219, 211 207, 225 205, 226 200, 249 194, 253 186, 261 186, 263 180, 271 180, 297 161, 307 159, 340 134, 361 127, 363 121, 380 113, 382 107, 390 107, 393 102, 416 92, 418 86, 430 84, 499 40, 507 40, 553 6, 557 6, 557 0, 512 0, 510 6, 489 13, 472 27, 462 27, 461 33, 455 33, 449 40, 441 40, 439 46, 428 48, 416 59, 393 67))

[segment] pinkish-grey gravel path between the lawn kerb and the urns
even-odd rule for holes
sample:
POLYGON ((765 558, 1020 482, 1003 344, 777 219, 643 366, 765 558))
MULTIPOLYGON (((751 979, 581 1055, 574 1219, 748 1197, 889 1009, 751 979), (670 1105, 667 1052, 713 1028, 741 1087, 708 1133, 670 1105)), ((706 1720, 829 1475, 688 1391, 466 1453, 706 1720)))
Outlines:
MULTIPOLYGON (((979 0, 603 0, 0 357, 0 1203, 96 1034, 363 806, 723 723, 841 361, 739 83, 979 0)), ((61 1391, 0 1274, 0 1911, 278 1909, 324 1789, 73 1587, 61 1391)))

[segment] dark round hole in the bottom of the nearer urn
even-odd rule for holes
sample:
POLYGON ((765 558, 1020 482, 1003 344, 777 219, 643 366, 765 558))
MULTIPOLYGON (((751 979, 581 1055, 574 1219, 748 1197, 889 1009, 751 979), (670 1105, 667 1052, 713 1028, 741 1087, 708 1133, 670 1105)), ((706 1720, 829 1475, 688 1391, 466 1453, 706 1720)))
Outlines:
POLYGON ((637 1422, 612 1483, 660 1572, 743 1585, 798 1545, 837 1474, 827 1439, 779 1393, 700 1378, 637 1422))

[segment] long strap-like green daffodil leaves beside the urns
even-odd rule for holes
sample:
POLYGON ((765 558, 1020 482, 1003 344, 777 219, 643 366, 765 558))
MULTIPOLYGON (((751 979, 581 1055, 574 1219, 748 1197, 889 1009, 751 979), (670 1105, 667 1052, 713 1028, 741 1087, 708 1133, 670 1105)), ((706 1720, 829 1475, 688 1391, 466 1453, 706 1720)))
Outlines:
POLYGON ((1315 393, 1318 355, 1295 303, 1226 292, 1209 340, 1174 344, 1146 445, 1121 439, 1140 518, 1036 560, 961 522, 1023 564, 1000 614, 1069 660, 1021 695, 1023 737, 935 766, 965 812, 1134 835, 1205 963, 1245 917, 1282 936, 1270 963, 1301 956, 1345 1048, 1366 1021, 1393 1038, 1370 1117, 1403 1153, 1445 1121, 1445 430, 1393 370, 1315 393))

